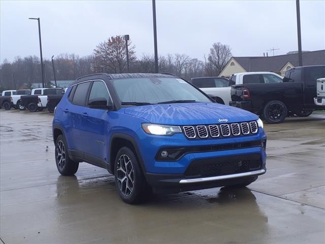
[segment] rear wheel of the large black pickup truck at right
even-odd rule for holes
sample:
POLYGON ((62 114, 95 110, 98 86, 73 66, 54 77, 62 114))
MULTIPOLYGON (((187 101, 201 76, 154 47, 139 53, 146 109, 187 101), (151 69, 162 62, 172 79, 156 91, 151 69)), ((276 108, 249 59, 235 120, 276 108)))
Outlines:
POLYGON ((287 112, 288 110, 284 103, 274 100, 265 105, 263 109, 263 117, 268 123, 277 124, 281 123, 285 119, 287 112))

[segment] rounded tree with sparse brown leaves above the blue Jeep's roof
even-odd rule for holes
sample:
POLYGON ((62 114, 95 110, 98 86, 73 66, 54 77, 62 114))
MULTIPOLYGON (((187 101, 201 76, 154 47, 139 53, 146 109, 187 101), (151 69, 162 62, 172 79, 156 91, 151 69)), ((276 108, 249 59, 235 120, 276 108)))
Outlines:
MULTIPOLYGON (((135 46, 131 40, 127 43, 130 64, 135 62, 135 46)), ((110 37, 94 49, 96 70, 99 72, 123 73, 126 71, 126 48, 123 36, 110 37)))

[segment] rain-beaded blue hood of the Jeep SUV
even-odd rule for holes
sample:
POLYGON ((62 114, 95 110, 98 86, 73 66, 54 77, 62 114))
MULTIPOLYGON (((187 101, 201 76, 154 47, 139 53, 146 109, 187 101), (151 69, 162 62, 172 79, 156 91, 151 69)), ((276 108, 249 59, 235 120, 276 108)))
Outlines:
POLYGON ((258 119, 251 112, 218 103, 155 104, 128 107, 124 113, 163 125, 223 124, 258 119))

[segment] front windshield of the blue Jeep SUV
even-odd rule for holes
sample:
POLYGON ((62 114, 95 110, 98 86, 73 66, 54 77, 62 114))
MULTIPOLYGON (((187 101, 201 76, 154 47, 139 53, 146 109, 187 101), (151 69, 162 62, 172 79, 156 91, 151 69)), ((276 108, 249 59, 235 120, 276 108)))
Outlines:
POLYGON ((139 103, 139 105, 144 105, 143 103, 211 102, 199 90, 178 78, 129 78, 116 79, 112 83, 122 104, 139 103))

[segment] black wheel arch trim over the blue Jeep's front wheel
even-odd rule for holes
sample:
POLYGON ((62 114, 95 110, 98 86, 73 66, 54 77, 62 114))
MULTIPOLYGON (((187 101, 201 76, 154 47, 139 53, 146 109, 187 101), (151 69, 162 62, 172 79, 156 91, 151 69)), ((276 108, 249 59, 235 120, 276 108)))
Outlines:
POLYGON ((136 140, 132 136, 123 133, 114 133, 111 136, 109 144, 109 165, 107 167, 107 170, 111 174, 114 174, 115 158, 118 150, 123 146, 129 147, 131 150, 134 151, 138 162, 140 163, 142 172, 145 173, 146 169, 144 167, 143 159, 141 157, 141 153, 136 140))

